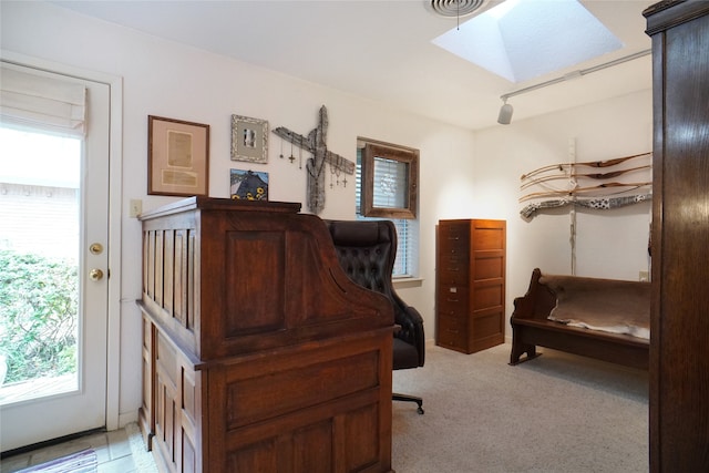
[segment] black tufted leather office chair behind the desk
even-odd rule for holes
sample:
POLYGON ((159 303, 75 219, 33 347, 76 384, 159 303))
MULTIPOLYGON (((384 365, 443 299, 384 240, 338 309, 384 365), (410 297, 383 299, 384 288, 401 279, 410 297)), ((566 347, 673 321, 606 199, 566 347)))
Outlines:
MULTIPOLYGON (((394 307, 393 369, 422 367, 425 358, 423 319, 397 295, 391 274, 397 257, 397 228, 389 220, 326 220, 340 266, 360 286, 383 294, 394 307)), ((423 400, 392 394, 394 401, 415 402, 423 414, 423 400)))

